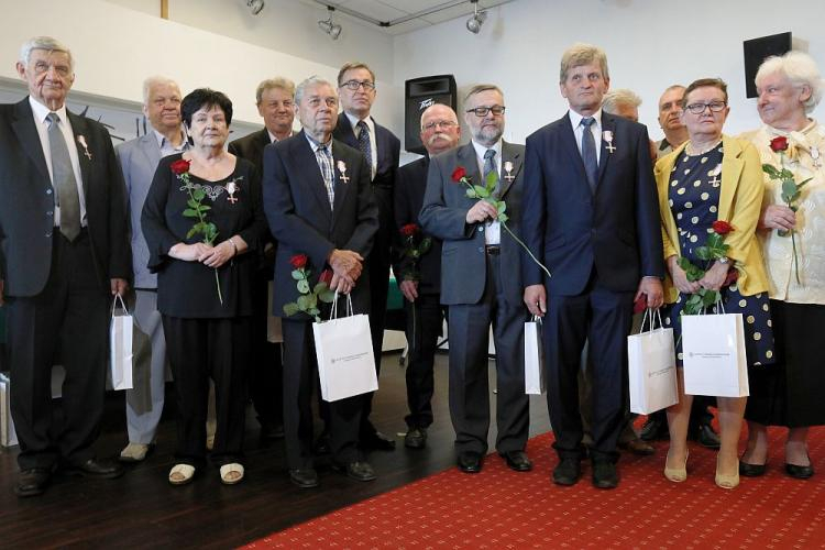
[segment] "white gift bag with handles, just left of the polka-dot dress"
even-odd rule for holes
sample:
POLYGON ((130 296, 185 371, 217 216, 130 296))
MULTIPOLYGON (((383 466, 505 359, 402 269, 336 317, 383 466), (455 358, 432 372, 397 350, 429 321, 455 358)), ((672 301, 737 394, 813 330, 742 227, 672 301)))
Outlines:
MULTIPOLYGON (((659 316, 659 311, 656 311, 659 316)), ((630 389, 630 413, 649 415, 679 403, 676 358, 673 329, 654 329, 653 312, 648 309, 641 320, 641 332, 627 337, 627 380, 630 389), (648 315, 649 314, 649 315, 648 315), (650 319, 645 331, 645 321, 650 319)))

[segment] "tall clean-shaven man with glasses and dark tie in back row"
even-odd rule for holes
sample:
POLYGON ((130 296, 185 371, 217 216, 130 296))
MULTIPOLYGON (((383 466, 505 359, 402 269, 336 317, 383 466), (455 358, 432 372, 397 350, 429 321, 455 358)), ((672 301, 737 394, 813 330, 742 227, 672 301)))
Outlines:
MULTIPOLYGON (((380 229, 366 258, 370 272, 370 330, 373 336, 375 369, 381 372, 381 349, 384 342, 384 319, 389 287, 391 246, 395 221, 393 219, 393 187, 398 169, 402 143, 393 132, 382 127, 370 114, 375 101, 375 73, 364 63, 348 63, 338 72, 338 92, 343 111, 338 117, 337 140, 361 151, 370 166, 372 189, 378 205, 380 229)), ((384 436, 370 421, 372 394, 364 399, 361 417, 360 444, 365 450, 392 451, 395 440, 384 436)))

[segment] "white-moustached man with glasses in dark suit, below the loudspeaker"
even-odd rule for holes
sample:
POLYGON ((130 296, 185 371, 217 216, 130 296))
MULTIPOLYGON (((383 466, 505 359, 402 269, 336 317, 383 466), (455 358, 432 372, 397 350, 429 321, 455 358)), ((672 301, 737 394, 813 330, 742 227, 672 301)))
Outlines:
POLYGON ((427 237, 432 242, 430 250, 416 261, 405 254, 400 231, 410 223, 418 226, 418 213, 427 189, 430 156, 454 148, 460 139, 461 127, 455 111, 441 103, 425 109, 421 113, 421 143, 427 154, 398 169, 394 190, 398 242, 393 271, 406 298, 406 336, 409 348, 406 375, 409 415, 405 418, 407 435, 404 437, 404 446, 410 449, 424 449, 427 444, 427 428, 432 424, 432 364, 442 324, 441 241, 426 233, 414 235, 416 243, 427 237))

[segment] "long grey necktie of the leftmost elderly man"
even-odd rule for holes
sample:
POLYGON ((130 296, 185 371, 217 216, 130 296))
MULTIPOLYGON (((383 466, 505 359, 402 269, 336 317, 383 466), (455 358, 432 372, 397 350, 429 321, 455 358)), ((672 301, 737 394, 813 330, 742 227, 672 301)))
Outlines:
POLYGON ((46 119, 48 148, 52 152, 52 184, 57 190, 61 207, 61 233, 69 241, 74 241, 80 233, 80 198, 77 194, 75 170, 72 169, 72 158, 61 131, 61 118, 56 112, 50 112, 46 119))

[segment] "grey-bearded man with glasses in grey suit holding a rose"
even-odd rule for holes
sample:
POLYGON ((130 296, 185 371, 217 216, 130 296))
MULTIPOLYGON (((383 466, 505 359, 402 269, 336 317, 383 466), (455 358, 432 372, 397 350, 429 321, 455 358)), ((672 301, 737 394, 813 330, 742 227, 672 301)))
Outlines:
POLYGON ((504 95, 493 85, 473 87, 464 98, 464 122, 472 142, 430 160, 420 221, 443 242, 441 304, 450 306, 450 417, 455 429, 458 464, 476 473, 487 450, 490 391, 487 348, 490 326, 496 348, 496 449, 517 471, 532 469, 524 452, 529 428, 525 394, 521 249, 518 234, 521 163, 525 147, 502 140, 504 95), (496 208, 468 198, 453 180, 464 168, 475 185, 490 173, 498 179, 495 195, 507 204, 507 226, 496 208))

